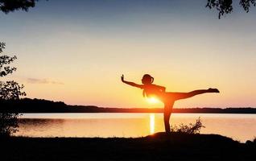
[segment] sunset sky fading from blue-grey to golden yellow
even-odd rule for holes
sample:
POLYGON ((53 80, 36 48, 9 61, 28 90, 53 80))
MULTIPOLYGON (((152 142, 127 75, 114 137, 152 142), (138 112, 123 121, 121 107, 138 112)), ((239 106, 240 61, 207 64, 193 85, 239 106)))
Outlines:
POLYGON ((5 54, 18 70, 2 80, 27 97, 69 105, 163 107, 142 97, 145 73, 168 92, 217 88, 175 108, 256 106, 256 8, 234 4, 218 19, 206 0, 49 0, 0 13, 5 54))

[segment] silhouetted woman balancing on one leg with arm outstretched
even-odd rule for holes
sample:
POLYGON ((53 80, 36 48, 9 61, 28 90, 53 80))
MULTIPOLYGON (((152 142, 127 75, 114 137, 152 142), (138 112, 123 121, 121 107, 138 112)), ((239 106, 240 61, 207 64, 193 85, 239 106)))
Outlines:
POLYGON ((203 93, 220 93, 218 89, 200 89, 200 90, 194 90, 189 93, 170 93, 165 91, 165 87, 159 86, 159 85, 154 85, 153 81, 154 78, 149 75, 145 74, 142 77, 142 85, 135 84, 134 82, 130 81, 125 81, 124 76, 121 76, 121 80, 123 83, 127 85, 131 85, 134 87, 137 87, 139 89, 143 89, 143 96, 147 97, 156 97, 160 101, 163 102, 164 104, 164 114, 163 114, 163 119, 164 119, 164 127, 166 133, 170 133, 170 116, 171 116, 171 110, 174 105, 174 102, 180 99, 185 99, 189 97, 196 96, 198 94, 203 94, 203 93))

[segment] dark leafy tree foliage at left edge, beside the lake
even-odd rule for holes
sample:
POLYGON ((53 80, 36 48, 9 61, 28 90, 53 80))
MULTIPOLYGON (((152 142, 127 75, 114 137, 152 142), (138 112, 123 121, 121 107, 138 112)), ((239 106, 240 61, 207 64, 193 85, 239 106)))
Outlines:
MULTIPOLYGON (((6 47, 6 43, 0 43, 0 54, 6 47)), ((0 77, 7 76, 16 70, 10 67, 16 56, 0 56, 0 77)), ((26 93, 22 92, 23 85, 19 85, 15 81, 0 81, 0 101, 4 100, 17 100, 20 96, 25 96, 26 93)), ((1 113, 0 114, 0 136, 10 136, 17 131, 18 127, 18 113, 1 113)))

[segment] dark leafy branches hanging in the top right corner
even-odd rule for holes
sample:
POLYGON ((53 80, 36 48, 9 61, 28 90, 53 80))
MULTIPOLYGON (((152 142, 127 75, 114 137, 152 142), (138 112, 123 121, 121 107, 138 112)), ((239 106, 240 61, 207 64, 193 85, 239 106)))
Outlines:
MULTIPOLYGON (((249 12, 250 6, 256 6, 256 0, 240 0, 239 5, 243 10, 249 12)), ((219 12, 219 19, 225 14, 230 14, 233 11, 232 0, 208 0, 206 7, 209 9, 215 8, 219 12)))

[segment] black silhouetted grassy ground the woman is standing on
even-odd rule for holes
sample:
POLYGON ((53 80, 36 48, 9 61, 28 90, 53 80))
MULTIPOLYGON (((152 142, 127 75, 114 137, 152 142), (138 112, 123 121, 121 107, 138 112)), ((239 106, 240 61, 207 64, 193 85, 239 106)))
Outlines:
POLYGON ((1 160, 255 160, 256 141, 217 134, 143 138, 0 138, 1 160))

